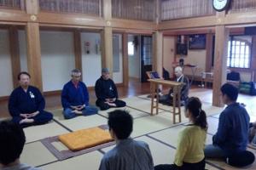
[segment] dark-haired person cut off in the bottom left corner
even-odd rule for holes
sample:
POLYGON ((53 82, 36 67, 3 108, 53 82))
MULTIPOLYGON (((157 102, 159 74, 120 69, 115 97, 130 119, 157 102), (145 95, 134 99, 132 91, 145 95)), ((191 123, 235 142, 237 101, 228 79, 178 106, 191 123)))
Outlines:
POLYGON ((26 138, 20 125, 11 121, 0 122, 0 169, 39 170, 20 163, 20 154, 26 138))

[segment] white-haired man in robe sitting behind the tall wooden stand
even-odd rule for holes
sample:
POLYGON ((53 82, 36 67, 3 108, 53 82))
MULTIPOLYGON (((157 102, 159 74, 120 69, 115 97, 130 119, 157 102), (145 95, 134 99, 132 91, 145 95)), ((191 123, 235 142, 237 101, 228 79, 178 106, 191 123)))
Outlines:
MULTIPOLYGON (((189 78, 183 75, 183 68, 181 66, 175 67, 174 74, 176 76, 176 82, 183 82, 181 89, 181 105, 184 105, 187 99, 189 99, 189 78)), ((172 97, 173 91, 171 88, 168 94, 160 97, 159 102, 163 105, 172 105, 172 97)))

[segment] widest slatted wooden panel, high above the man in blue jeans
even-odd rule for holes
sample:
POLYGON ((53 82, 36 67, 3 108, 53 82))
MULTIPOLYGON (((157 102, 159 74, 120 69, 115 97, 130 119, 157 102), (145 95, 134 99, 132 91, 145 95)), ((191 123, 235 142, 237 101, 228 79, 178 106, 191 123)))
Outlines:
POLYGON ((102 16, 102 0, 39 0, 41 11, 102 16))

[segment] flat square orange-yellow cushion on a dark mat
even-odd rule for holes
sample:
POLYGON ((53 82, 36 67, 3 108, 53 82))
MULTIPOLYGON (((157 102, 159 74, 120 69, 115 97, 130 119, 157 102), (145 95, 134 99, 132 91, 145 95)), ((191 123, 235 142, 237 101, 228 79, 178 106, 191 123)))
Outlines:
POLYGON ((73 133, 62 134, 58 138, 69 150, 73 151, 84 150, 113 140, 108 131, 100 127, 92 127, 73 133))

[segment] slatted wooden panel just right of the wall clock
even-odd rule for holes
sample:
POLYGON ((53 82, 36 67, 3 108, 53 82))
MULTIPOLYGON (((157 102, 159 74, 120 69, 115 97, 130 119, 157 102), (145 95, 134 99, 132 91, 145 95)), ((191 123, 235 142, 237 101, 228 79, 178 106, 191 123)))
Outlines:
POLYGON ((247 12, 256 10, 256 0, 233 0, 230 13, 247 12))

